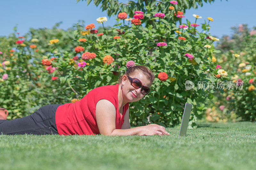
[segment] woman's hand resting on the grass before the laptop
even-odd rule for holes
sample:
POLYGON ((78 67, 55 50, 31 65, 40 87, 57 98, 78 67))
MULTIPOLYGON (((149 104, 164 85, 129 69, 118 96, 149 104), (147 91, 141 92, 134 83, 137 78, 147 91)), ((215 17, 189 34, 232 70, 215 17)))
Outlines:
POLYGON ((143 127, 144 127, 144 135, 147 135, 147 136, 152 136, 156 134, 160 136, 162 136, 162 134, 170 135, 170 133, 165 131, 165 128, 163 126, 160 126, 158 124, 148 124, 143 127))

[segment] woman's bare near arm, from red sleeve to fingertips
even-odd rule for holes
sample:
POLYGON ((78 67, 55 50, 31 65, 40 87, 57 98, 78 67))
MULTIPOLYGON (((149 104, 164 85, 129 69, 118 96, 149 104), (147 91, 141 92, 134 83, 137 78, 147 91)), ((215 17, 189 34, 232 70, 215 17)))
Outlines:
MULTIPOLYGON (((129 113, 129 112, 128 112, 129 113)), ((149 124, 131 129, 116 129, 116 108, 106 99, 101 99, 96 104, 96 121, 102 135, 155 135, 169 134, 163 126, 149 124)), ((126 114, 126 113, 125 113, 126 114)), ((129 114, 128 114, 129 115, 129 114)), ((124 116, 125 117, 125 116, 124 116)), ((129 119, 128 119, 129 121, 129 119)))

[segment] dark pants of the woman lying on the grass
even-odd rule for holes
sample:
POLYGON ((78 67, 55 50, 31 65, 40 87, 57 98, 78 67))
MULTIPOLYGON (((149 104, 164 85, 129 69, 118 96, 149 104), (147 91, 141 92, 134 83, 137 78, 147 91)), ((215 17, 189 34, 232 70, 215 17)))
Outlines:
POLYGON ((59 134, 55 122, 55 112, 63 104, 50 104, 36 110, 29 116, 13 120, 0 119, 0 135, 15 134, 59 134))

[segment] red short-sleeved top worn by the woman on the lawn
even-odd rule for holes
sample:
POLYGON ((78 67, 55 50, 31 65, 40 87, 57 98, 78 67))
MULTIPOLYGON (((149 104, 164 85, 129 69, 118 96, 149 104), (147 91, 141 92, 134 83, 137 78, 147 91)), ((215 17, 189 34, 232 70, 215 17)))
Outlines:
POLYGON ((96 122, 95 108, 100 99, 106 99, 116 108, 116 129, 121 129, 129 103, 123 108, 122 116, 118 110, 118 84, 92 89, 80 101, 60 105, 55 113, 55 121, 60 135, 100 134, 96 122))

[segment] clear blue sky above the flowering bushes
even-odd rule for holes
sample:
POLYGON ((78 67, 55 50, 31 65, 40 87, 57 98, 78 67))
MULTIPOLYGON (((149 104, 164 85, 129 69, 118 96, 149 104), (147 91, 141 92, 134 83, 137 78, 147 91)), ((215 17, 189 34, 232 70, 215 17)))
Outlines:
MULTIPOLYGON (((125 0, 122 0, 125 2, 125 0)), ((86 5, 86 1, 76 0, 1 0, 0 2, 0 36, 6 36, 13 32, 13 27, 18 24, 20 36, 28 32, 29 28, 52 28, 52 26, 62 21, 60 28, 67 29, 78 20, 84 20, 85 25, 94 23, 96 28, 101 26, 96 22, 96 18, 106 16, 107 12, 102 12, 100 6, 96 7, 91 3, 86 5)), ((204 3, 203 7, 187 10, 185 19, 194 22, 193 14, 202 16, 197 24, 203 23, 207 17, 212 17, 211 34, 219 38, 231 34, 231 26, 248 24, 250 28, 256 26, 256 1, 255 0, 215 0, 212 4, 204 3)), ((183 20, 185 21, 185 20, 183 20)), ((113 26, 116 20, 108 18, 105 25, 113 26)), ((104 25, 104 26, 105 26, 104 25)))

